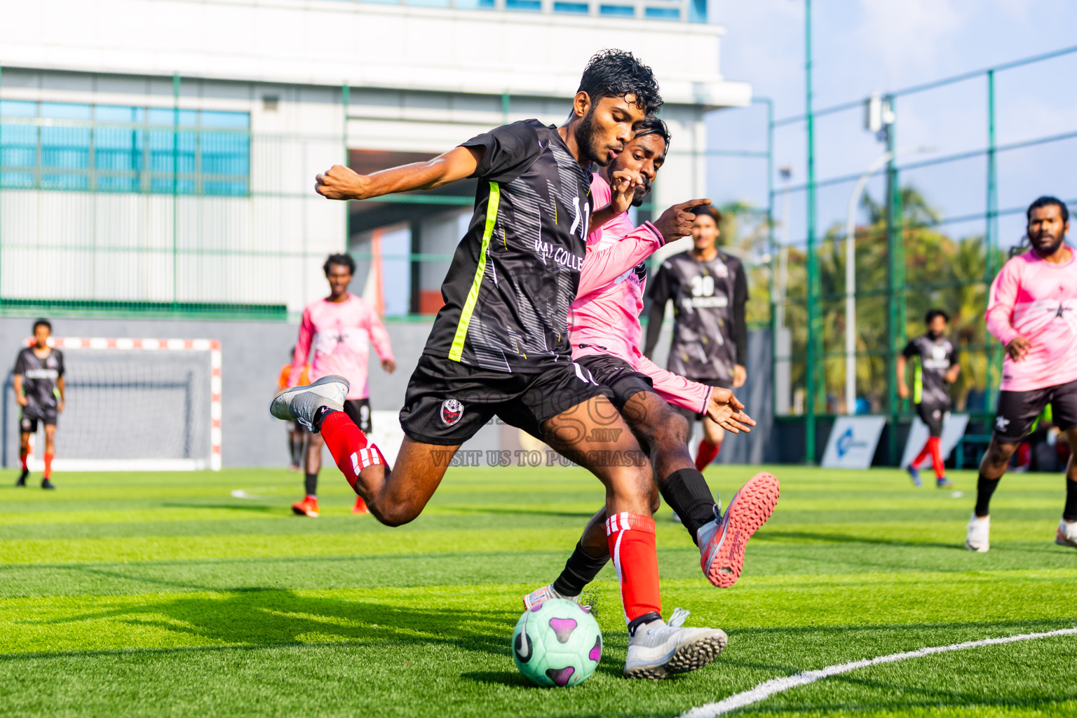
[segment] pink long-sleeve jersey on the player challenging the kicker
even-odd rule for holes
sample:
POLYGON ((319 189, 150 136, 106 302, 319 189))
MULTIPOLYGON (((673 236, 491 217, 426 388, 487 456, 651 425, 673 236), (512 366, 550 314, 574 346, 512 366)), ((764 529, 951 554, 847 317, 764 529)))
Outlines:
MULTIPOLYGON (((612 197, 610 184, 597 173, 591 177, 591 196, 597 208, 609 205, 612 197)), ((647 281, 644 263, 663 243, 661 234, 649 223, 633 227, 628 212, 610 220, 587 237, 585 273, 589 263, 612 265, 614 256, 639 256, 640 261, 615 278, 604 277, 603 282, 581 280, 569 314, 572 357, 613 354, 651 377, 655 392, 667 402, 702 413, 711 397, 711 388, 662 369, 640 351, 643 336, 640 312, 647 281), (633 248, 635 251, 630 252, 633 248), (644 253, 639 249, 649 251, 644 253)))

